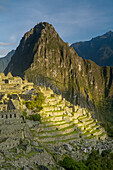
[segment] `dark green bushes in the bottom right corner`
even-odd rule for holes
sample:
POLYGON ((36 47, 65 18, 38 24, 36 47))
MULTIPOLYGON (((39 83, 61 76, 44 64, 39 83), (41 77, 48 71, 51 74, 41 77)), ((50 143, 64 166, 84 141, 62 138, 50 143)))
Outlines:
POLYGON ((66 156, 59 163, 66 170, 112 170, 113 153, 103 151, 100 155, 98 151, 94 150, 86 161, 76 162, 71 157, 66 156))

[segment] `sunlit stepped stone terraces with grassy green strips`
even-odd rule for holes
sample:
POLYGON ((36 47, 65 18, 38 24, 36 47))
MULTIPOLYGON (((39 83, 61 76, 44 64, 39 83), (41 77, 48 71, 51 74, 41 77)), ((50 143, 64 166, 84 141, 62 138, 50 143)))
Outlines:
POLYGON ((107 134, 87 109, 73 106, 50 88, 40 88, 46 100, 36 138, 43 143, 65 143, 80 138, 103 140, 107 134))

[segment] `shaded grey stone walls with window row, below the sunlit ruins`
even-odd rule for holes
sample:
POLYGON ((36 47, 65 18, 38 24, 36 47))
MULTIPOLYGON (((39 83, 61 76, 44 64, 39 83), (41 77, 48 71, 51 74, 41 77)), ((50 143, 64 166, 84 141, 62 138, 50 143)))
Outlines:
POLYGON ((24 138, 25 123, 16 110, 0 111, 0 150, 13 148, 24 138))

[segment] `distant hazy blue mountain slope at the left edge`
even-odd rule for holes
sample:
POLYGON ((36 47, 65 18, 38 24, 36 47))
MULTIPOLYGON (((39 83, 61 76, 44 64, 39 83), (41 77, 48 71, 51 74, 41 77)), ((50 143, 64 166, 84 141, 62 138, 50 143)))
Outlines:
POLYGON ((3 72, 14 55, 15 50, 10 51, 5 57, 0 58, 0 72, 3 72))

